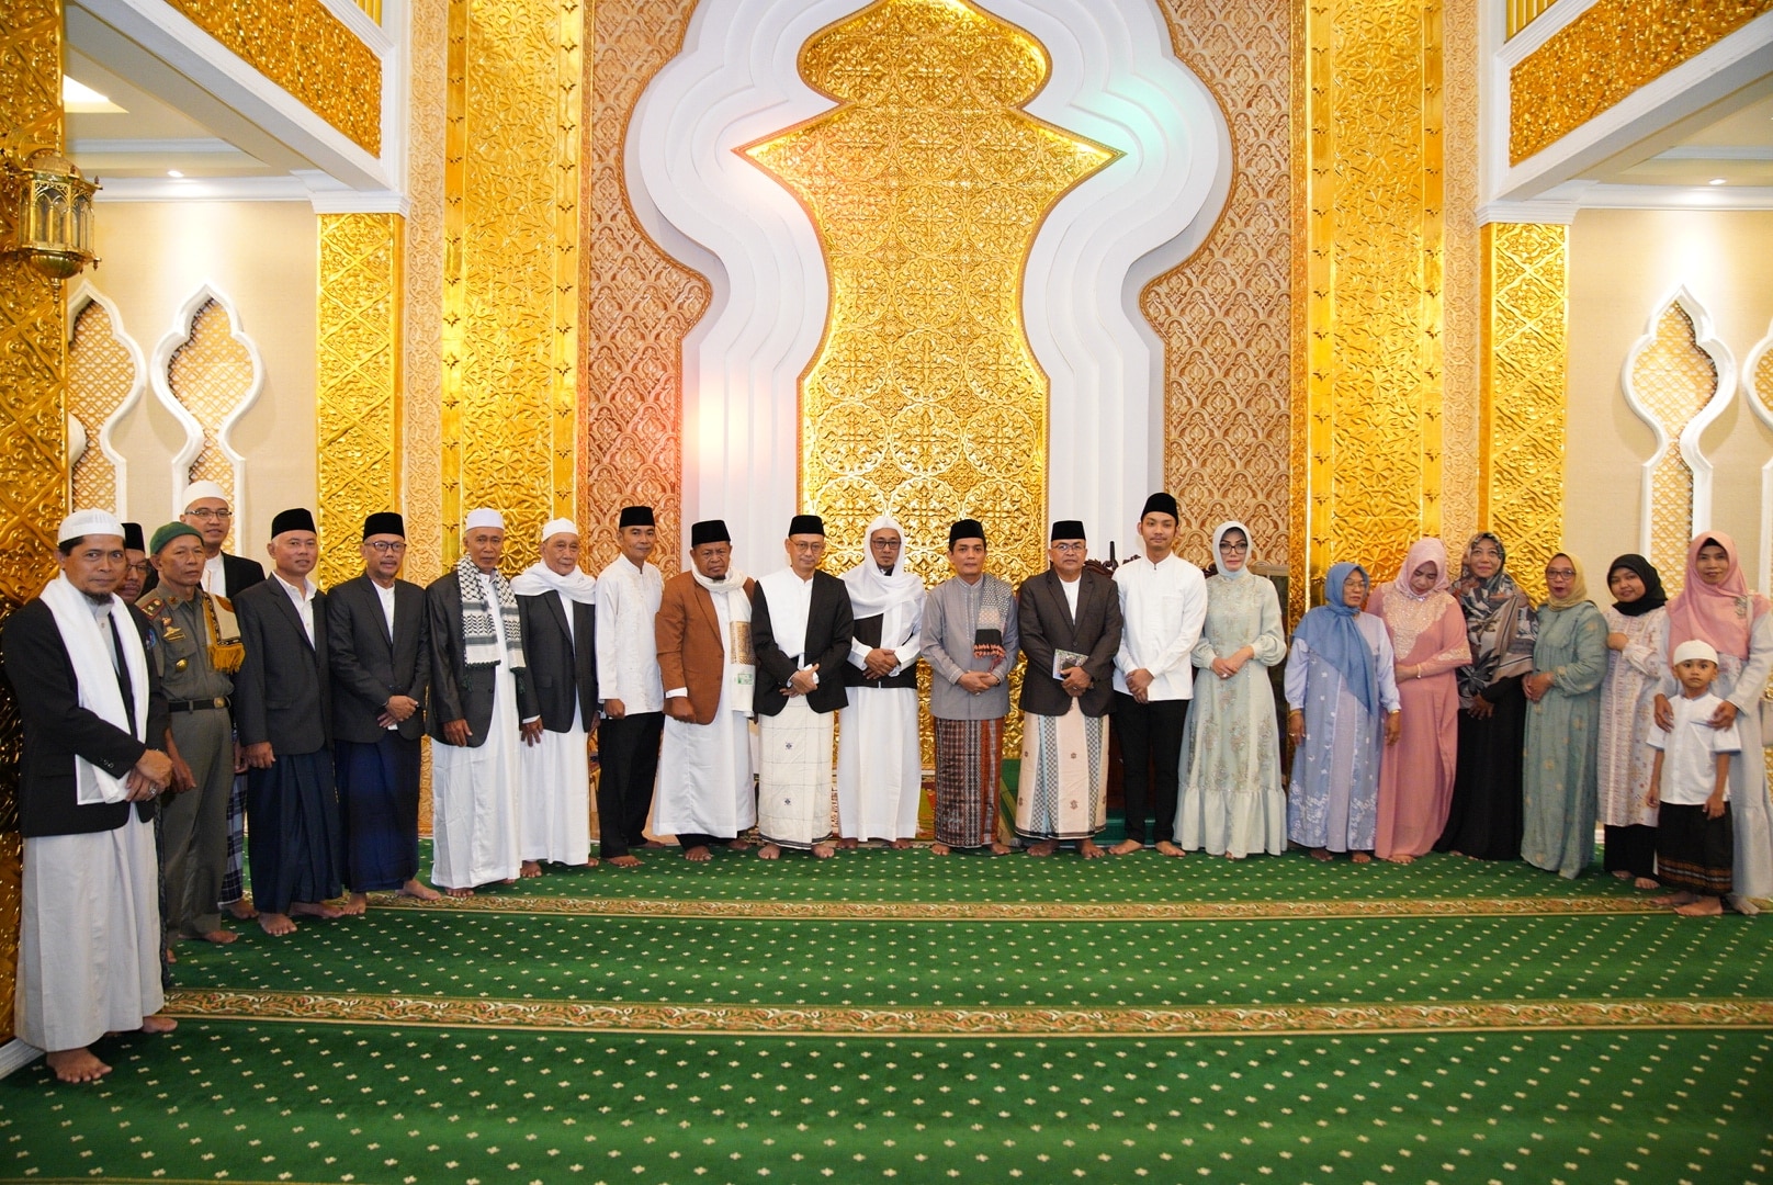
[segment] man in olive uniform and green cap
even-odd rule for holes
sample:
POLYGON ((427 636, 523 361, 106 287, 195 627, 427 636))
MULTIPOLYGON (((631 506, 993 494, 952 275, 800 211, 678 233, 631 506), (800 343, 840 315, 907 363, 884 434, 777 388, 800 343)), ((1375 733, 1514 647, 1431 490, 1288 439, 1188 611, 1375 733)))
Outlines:
POLYGON ((154 663, 170 710, 167 756, 174 793, 161 802, 160 876, 165 944, 181 938, 232 942, 216 899, 227 871, 227 800, 234 784, 230 676, 239 671, 239 628, 227 598, 202 587, 204 538, 188 523, 167 523, 151 539, 160 573, 137 601, 147 616, 154 663), (232 640, 227 640, 232 639, 232 640))

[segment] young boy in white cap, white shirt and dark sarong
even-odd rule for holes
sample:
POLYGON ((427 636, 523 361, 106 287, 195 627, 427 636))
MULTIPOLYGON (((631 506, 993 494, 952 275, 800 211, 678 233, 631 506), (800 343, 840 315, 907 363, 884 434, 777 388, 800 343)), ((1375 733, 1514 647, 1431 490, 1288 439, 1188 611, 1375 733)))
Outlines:
POLYGON ((1674 727, 1652 727, 1645 742, 1656 750, 1649 805, 1661 805, 1656 827, 1656 876, 1675 892, 1656 898, 1684 917, 1714 917, 1730 894, 1736 841, 1730 834, 1730 754, 1741 752, 1736 726, 1714 729, 1718 651, 1700 640, 1674 651, 1674 727))

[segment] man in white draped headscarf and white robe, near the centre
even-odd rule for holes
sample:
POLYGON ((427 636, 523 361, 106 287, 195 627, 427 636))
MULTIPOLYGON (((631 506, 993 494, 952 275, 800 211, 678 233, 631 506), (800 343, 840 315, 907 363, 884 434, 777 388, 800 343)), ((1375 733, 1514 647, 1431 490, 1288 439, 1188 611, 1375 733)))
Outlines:
POLYGON ((904 530, 890 514, 869 523, 867 555, 844 573, 855 617, 837 733, 840 848, 886 839, 910 848, 924 802, 917 736, 917 656, 924 646, 924 578, 904 562, 904 530))

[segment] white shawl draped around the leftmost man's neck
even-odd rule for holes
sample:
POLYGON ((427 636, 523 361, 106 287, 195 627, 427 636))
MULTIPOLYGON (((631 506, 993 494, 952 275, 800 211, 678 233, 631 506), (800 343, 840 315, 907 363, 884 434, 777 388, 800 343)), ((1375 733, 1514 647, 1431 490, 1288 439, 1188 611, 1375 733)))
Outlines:
MULTIPOLYGON (((142 635, 128 617, 129 607, 121 598, 112 596, 110 608, 94 616, 92 601, 69 584, 66 575, 57 575, 44 585, 43 603, 55 616, 55 628, 60 630, 62 646, 67 647, 67 658, 74 665, 80 706, 147 743, 147 651, 142 649, 142 635), (133 729, 122 702, 122 688, 117 687, 117 667, 112 663, 112 621, 117 621, 117 640, 122 642, 121 658, 129 671, 129 688, 135 699, 133 729)), ((78 756, 74 757, 74 788, 76 802, 83 807, 99 802, 122 802, 129 797, 129 788, 122 781, 78 756)))

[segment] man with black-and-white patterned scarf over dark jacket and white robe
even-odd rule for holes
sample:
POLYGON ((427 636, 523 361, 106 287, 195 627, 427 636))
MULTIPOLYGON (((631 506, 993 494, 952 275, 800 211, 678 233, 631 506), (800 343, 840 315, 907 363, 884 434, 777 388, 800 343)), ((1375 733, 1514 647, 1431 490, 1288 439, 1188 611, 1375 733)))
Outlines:
POLYGON ((426 589, 431 616, 431 878, 452 898, 521 873, 519 743, 543 718, 518 594, 498 571, 505 518, 468 514, 461 562, 426 589))

